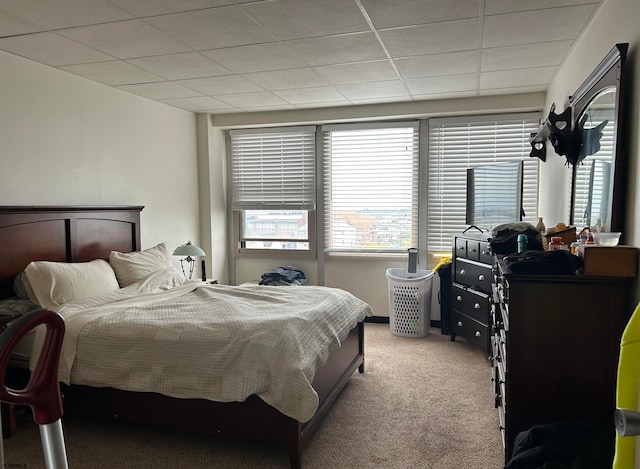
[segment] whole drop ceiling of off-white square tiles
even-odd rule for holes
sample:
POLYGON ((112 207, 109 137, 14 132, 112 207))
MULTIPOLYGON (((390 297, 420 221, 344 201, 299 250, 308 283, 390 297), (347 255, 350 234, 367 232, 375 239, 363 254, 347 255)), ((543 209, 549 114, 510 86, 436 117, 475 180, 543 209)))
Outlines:
POLYGON ((214 114, 544 91, 600 0, 0 0, 0 50, 214 114))

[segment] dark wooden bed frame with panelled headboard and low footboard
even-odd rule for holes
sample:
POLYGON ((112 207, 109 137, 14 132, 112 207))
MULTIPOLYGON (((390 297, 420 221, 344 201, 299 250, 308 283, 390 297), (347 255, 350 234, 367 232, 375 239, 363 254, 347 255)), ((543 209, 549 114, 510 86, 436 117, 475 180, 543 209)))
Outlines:
MULTIPOLYGON (((14 280, 31 261, 87 263, 109 259, 112 251, 140 251, 142 209, 141 206, 0 206, 0 299, 15 294, 14 280)), ((284 292, 296 287, 267 288, 284 292)), ((200 290, 206 288, 198 287, 200 290)), ((370 310, 365 313, 368 314, 370 310)), ((352 374, 356 370, 364 372, 363 335, 363 321, 359 320, 340 340, 339 347, 325 357, 326 363, 322 360, 324 364, 317 369, 311 383, 317 394, 317 405, 309 418, 294 418, 295 412, 283 413, 276 408, 278 405, 267 404, 264 397, 255 394, 243 401, 219 402, 210 398, 75 384, 73 379, 63 385, 65 414, 286 444, 290 466, 300 467, 302 447, 322 417, 352 374), (97 402, 100 405, 96 405, 97 402)))

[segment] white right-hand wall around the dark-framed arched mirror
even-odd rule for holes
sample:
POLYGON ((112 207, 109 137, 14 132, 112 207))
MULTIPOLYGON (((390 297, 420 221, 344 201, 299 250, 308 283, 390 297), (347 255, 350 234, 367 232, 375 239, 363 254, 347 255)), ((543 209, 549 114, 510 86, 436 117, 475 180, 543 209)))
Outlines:
MULTIPOLYGON (((638 0, 605 0, 593 21, 584 31, 578 44, 554 78, 547 93, 545 115, 551 103, 564 109, 567 97, 589 76, 600 61, 616 43, 629 43, 627 64, 630 78, 626 106, 629 110, 627 122, 628 150, 628 190, 627 213, 625 217, 625 239, 627 244, 640 246, 640 75, 637 64, 640 59, 640 2, 638 0)), ((566 167, 562 166, 564 157, 555 154, 547 157, 547 163, 541 168, 541 204, 540 212, 545 220, 553 224, 567 220, 569 208, 569 187, 566 178, 562 179, 566 167)), ((640 301, 640 286, 635 280, 634 301, 640 301)))

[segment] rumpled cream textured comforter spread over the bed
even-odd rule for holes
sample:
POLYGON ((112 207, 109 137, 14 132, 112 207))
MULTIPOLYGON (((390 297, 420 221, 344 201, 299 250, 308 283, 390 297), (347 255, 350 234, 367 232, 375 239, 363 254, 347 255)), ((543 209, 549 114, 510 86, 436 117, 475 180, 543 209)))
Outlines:
POLYGON ((221 402, 257 394, 304 422, 317 368, 372 314, 333 288, 177 283, 154 274, 63 305, 61 381, 221 402))

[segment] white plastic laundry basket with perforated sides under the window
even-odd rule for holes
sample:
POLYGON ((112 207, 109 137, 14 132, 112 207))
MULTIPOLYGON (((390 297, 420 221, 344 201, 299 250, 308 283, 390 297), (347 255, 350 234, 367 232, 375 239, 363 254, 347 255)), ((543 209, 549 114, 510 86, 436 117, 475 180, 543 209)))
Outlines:
POLYGON ((435 272, 430 270, 418 270, 409 277, 405 269, 387 269, 392 334, 408 337, 429 335, 434 275, 435 272))

